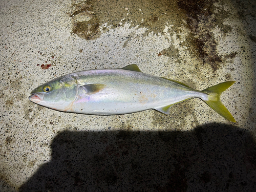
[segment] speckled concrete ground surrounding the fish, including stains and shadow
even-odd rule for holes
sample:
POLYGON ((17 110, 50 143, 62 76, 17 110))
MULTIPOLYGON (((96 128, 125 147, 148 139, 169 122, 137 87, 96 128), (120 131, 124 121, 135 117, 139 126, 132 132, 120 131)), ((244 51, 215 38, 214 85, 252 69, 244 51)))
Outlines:
POLYGON ((1 1, 0 191, 255 191, 255 1, 1 1), (122 68, 221 99, 117 116, 54 111, 32 89, 122 68))

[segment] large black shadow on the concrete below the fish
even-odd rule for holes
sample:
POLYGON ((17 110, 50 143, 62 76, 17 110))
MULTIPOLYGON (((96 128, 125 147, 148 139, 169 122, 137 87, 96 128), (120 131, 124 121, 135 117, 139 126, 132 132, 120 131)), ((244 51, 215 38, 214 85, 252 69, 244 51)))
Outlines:
POLYGON ((69 132, 19 191, 256 191, 256 144, 226 124, 189 132, 69 132))

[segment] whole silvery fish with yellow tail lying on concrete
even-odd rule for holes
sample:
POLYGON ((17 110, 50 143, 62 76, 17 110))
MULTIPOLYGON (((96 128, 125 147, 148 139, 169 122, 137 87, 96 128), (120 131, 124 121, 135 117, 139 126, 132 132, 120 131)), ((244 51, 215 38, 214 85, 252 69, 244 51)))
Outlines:
POLYGON ((119 115, 154 109, 169 115, 170 108, 200 98, 225 119, 236 122, 220 95, 235 81, 202 91, 176 80, 140 71, 136 64, 120 69, 92 69, 70 73, 42 84, 29 100, 57 111, 90 115, 119 115))

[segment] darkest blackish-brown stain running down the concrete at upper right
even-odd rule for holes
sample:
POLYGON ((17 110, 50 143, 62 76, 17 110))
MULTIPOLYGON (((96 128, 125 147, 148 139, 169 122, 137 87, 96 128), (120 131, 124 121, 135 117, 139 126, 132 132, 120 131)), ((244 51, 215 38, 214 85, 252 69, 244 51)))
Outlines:
POLYGON ((209 65, 214 73, 222 62, 217 52, 218 43, 212 32, 217 25, 216 16, 213 14, 215 2, 209 0, 179 0, 177 2, 187 15, 187 27, 191 32, 187 38, 188 47, 192 45, 194 50, 198 50, 197 56, 202 59, 202 64, 209 65))

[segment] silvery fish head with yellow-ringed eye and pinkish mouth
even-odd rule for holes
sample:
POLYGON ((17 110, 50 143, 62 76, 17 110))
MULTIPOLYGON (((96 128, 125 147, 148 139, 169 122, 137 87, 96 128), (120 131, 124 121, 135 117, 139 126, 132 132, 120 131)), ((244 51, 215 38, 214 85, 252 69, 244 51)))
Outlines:
POLYGON ((29 100, 58 111, 65 111, 76 98, 77 79, 65 75, 42 84, 34 89, 29 100))

